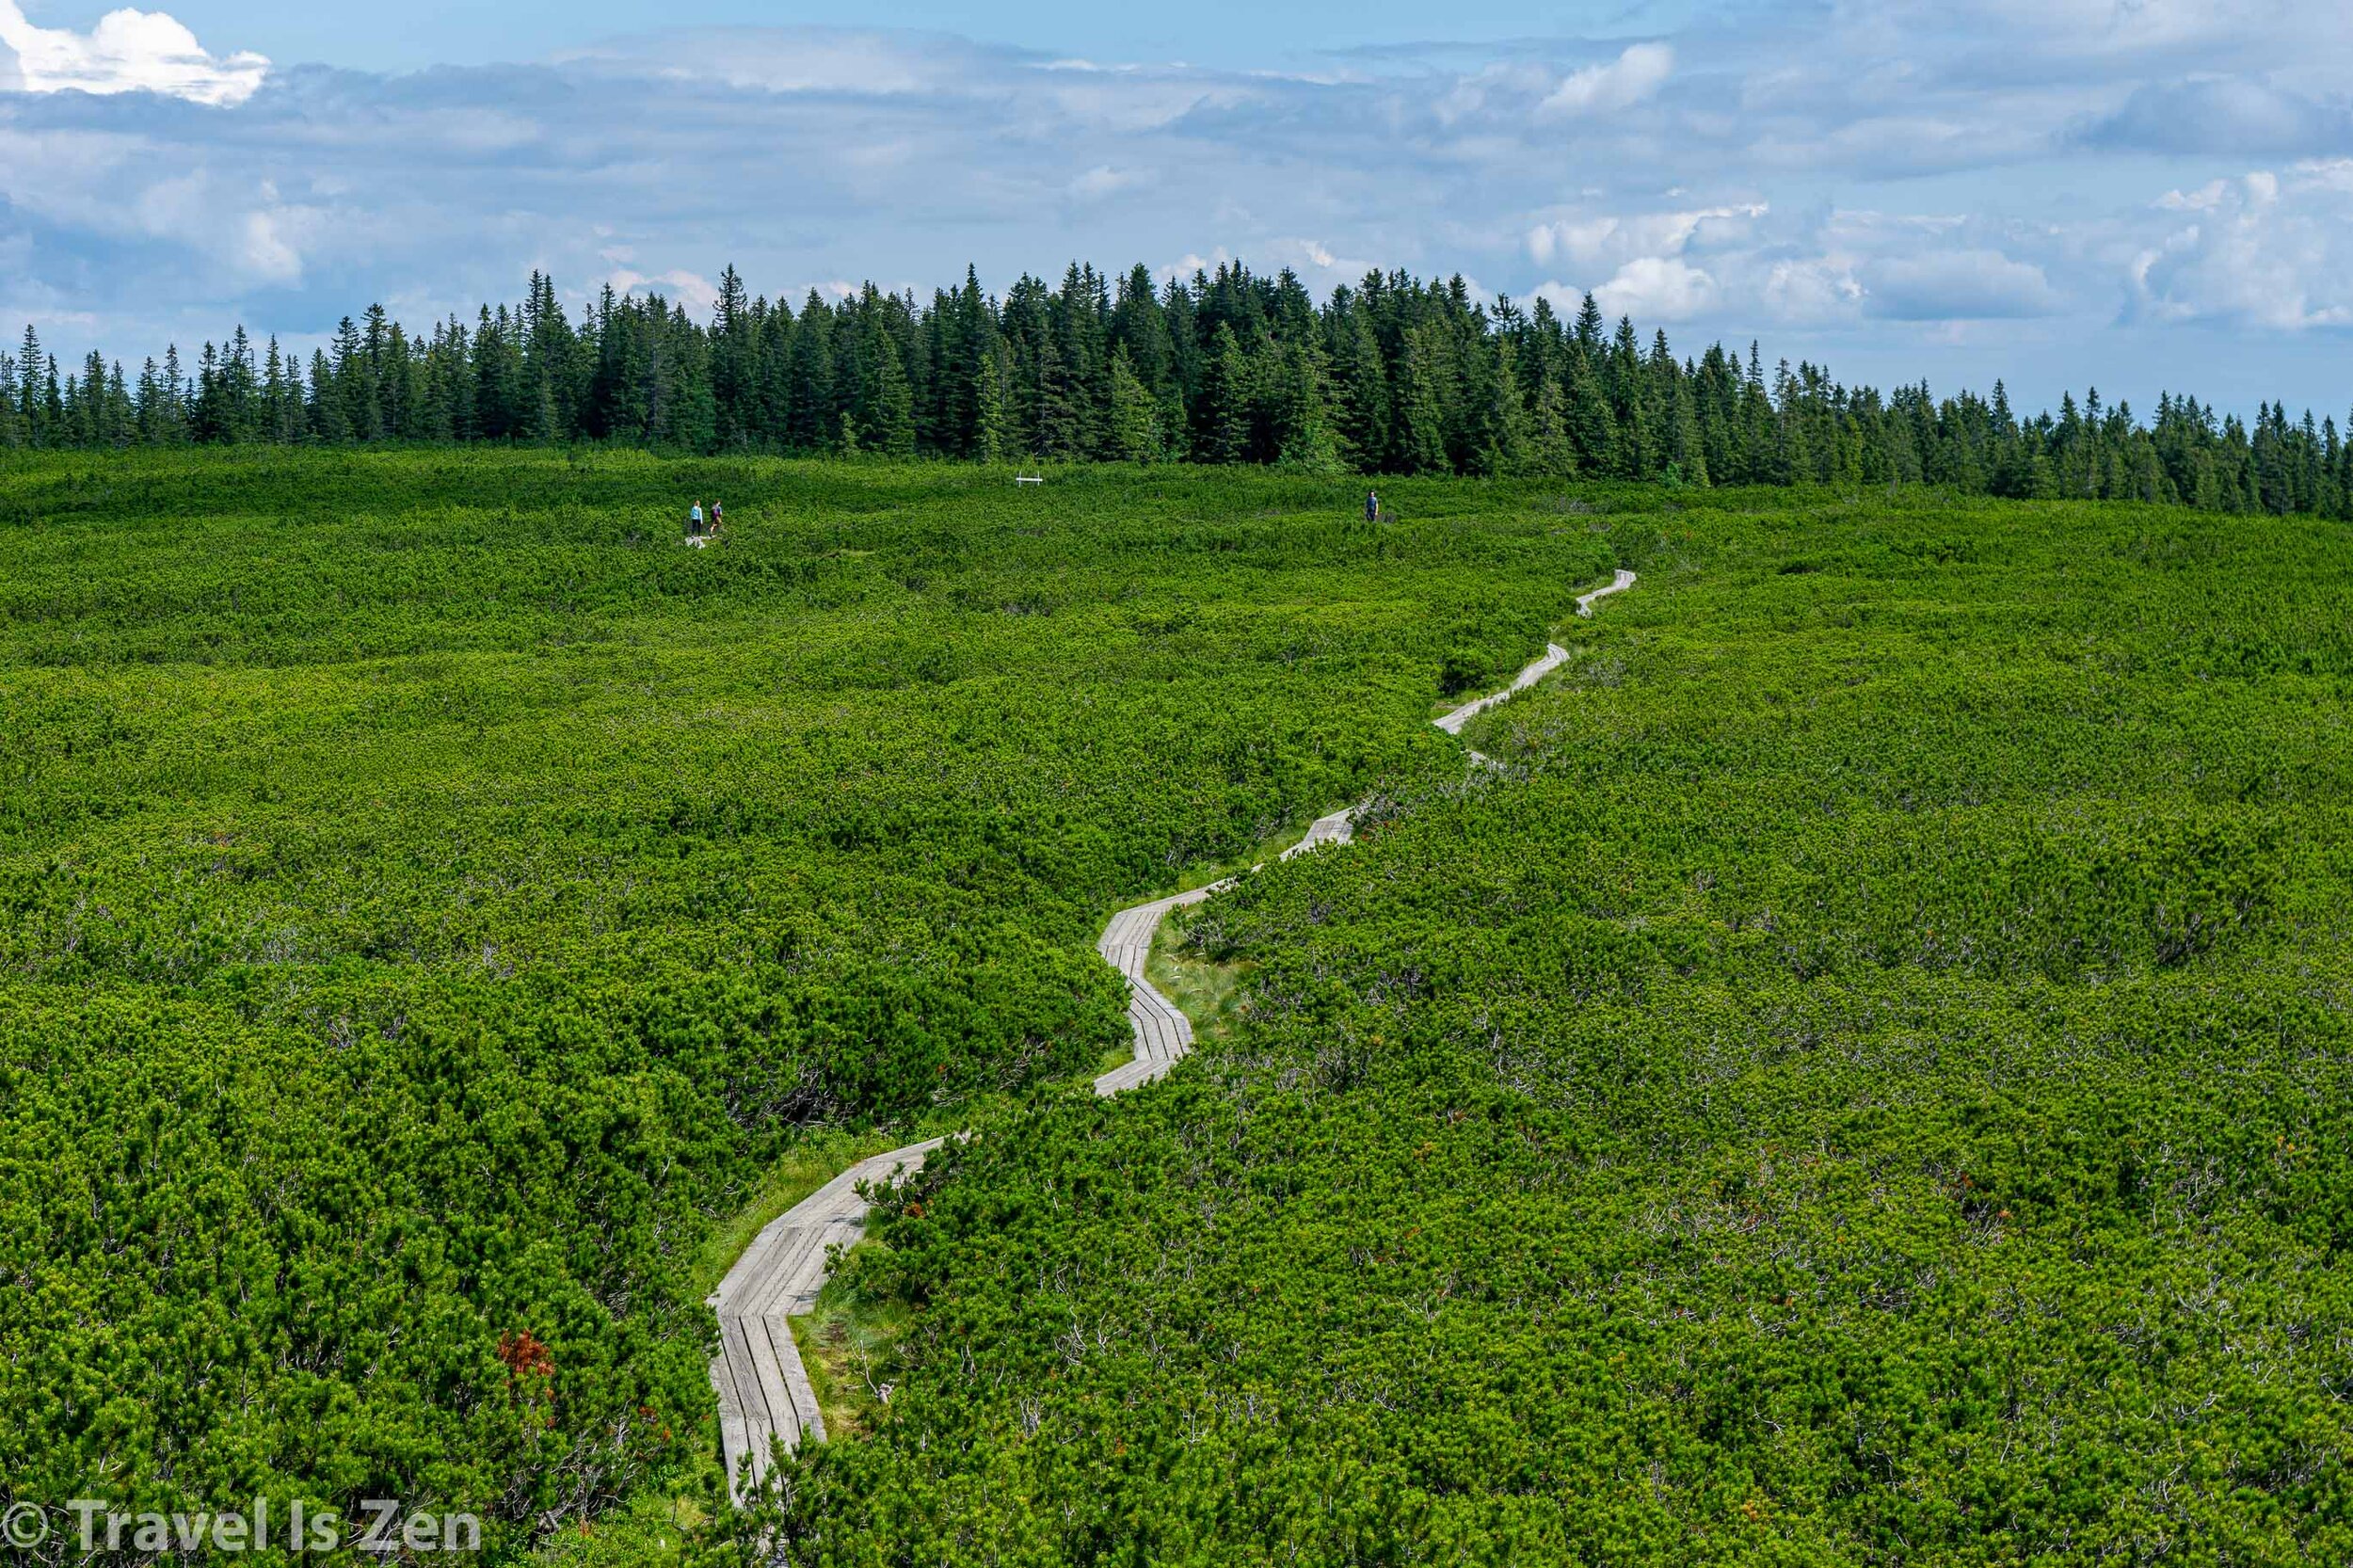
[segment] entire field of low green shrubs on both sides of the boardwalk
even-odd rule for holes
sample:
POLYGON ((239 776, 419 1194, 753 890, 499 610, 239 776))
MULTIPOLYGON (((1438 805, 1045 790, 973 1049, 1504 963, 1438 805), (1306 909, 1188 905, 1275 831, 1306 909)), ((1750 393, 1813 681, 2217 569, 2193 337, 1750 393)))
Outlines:
POLYGON ((2346 525, 1381 492, 0 457, 0 1495, 708 1507, 713 1238, 972 1128, 696 1552, 2353 1556, 2346 525))

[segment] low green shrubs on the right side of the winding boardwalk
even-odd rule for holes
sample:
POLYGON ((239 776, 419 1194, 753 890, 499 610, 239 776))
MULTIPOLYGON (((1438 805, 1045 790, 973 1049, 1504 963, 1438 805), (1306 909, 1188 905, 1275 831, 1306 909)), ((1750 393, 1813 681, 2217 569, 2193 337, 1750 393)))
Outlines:
POLYGON ((2344 525, 1602 520, 1494 772, 1179 916, 1228 1031, 878 1215, 784 1561, 2353 1556, 2344 525))

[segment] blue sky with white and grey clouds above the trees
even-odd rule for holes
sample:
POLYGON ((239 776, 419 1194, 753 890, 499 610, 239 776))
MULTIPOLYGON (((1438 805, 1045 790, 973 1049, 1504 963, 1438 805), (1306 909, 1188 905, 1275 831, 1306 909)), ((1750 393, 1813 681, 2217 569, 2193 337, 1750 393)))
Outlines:
POLYGON ((2353 403, 2353 12, 0 0, 0 332, 1369 266, 2026 403, 2353 403), (1151 12, 1127 16, 1120 12, 1151 12), (1181 24, 1181 28, 1179 28, 1181 24))

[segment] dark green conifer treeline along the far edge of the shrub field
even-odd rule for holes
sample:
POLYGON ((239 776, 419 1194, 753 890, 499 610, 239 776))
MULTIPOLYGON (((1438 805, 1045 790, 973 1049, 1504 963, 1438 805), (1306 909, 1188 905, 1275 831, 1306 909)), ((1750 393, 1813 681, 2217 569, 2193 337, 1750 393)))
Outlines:
POLYGON ((2125 497, 2212 511, 2353 513, 2334 419, 2217 419, 2162 396, 2144 424, 2092 391, 2021 419, 1991 398, 1880 393, 1817 365, 1769 374, 1751 344, 1675 358, 1588 294, 1482 306, 1457 275, 1367 273, 1320 306, 1240 264, 1158 287, 1144 266, 1071 266, 1002 299, 962 287, 826 301, 746 294, 711 323, 607 287, 579 320, 532 273, 520 306, 409 332, 384 306, 329 348, 238 327, 191 370, 136 377, 92 353, 59 370, 33 327, 0 356, 0 447, 174 443, 619 443, 661 450, 944 459, 1285 464, 1311 471, 1908 485, 2125 497))

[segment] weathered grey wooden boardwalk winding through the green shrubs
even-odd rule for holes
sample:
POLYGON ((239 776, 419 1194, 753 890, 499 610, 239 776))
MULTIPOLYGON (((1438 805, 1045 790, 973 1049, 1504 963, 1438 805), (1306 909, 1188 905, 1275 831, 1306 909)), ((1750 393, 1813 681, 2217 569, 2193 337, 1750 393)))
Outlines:
MULTIPOLYGON (((1593 614, 1593 600, 1624 593, 1631 586, 1633 572, 1621 567, 1607 589, 1593 589, 1577 598, 1577 614, 1593 614)), ((1567 647, 1546 643, 1544 657, 1522 669, 1508 687, 1466 702, 1438 718, 1438 727, 1447 735, 1461 735, 1466 723, 1544 680, 1567 657, 1567 647)), ((1471 756, 1480 763, 1487 760, 1475 751, 1471 756)), ((1355 810, 1348 805, 1329 817, 1318 817, 1306 836, 1282 852, 1282 859, 1325 843, 1348 843, 1355 831, 1355 810)), ((1127 1026, 1136 1038, 1136 1055, 1096 1078, 1096 1095, 1118 1095, 1151 1083, 1193 1050, 1191 1019, 1153 989, 1153 982, 1144 977, 1144 963, 1151 958, 1153 932, 1160 930, 1160 918, 1167 911, 1198 904, 1231 885, 1233 878, 1226 878, 1111 916, 1094 951, 1127 977, 1127 1026)), ((727 1455, 727 1483, 736 1502, 746 1495, 744 1462, 751 1460, 748 1479, 758 1488, 767 1476, 772 1441, 798 1448, 805 1431, 819 1443, 826 1441, 826 1417, 816 1408, 809 1373, 793 1344, 791 1318, 805 1316, 816 1304, 816 1293, 826 1283, 826 1248, 849 1248, 866 1234, 868 1203, 859 1196, 859 1187, 915 1175, 922 1170, 925 1156, 941 1142, 934 1137, 925 1144, 875 1154, 840 1172, 772 1220, 727 1269, 720 1288, 711 1293, 711 1307, 718 1309, 720 1318, 720 1354, 711 1361, 711 1389, 720 1401, 720 1446, 727 1455)))

